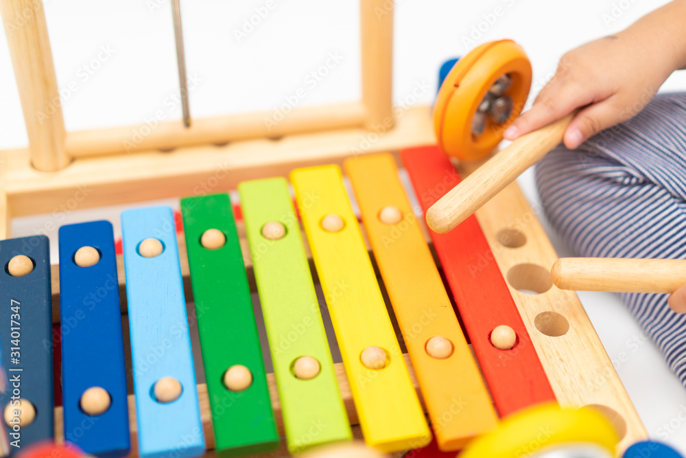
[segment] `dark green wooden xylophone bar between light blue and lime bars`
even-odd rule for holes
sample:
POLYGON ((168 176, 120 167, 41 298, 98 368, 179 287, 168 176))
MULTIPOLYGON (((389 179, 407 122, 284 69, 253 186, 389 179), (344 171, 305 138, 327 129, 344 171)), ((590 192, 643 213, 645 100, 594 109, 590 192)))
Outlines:
POLYGON ((181 212, 217 453, 274 450, 279 437, 230 199, 183 198, 181 212), (250 375, 242 391, 227 387, 230 370, 250 375))

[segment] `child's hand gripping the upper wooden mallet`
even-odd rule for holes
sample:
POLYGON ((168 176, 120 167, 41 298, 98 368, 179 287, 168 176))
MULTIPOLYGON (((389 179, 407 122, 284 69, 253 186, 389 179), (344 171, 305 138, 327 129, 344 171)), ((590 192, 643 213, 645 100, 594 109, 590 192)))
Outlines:
POLYGON ((563 138, 574 149, 600 130, 626 121, 643 109, 672 71, 683 67, 686 1, 652 12, 617 35, 569 51, 532 108, 504 132, 512 140, 585 107, 563 138))

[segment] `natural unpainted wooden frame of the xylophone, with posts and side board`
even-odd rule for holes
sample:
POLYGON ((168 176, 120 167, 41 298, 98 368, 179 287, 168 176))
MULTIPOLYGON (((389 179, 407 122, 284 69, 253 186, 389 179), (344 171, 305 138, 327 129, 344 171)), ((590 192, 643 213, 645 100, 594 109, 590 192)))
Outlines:
MULTIPOLYGON (((402 110, 392 106, 392 1, 360 1, 362 100, 298 108, 272 130, 263 124, 265 115, 254 113, 197 119, 191 128, 169 122, 152 129, 132 126, 66 133, 40 0, 0 0, 0 10, 29 136, 29 148, 0 152, 0 239, 11 236, 13 217, 230 190, 241 181, 287 176, 292 169, 305 165, 340 164, 351 154, 390 151, 397 157, 402 148, 436 143, 428 106, 402 110), (145 135, 132 144, 129 140, 134 132, 145 135)), ((621 450, 646 437, 578 298, 549 284, 547 272, 557 256, 517 185, 508 186, 477 211, 477 218, 497 265, 508 279, 512 297, 560 404, 600 406, 614 416, 624 433, 621 450), (525 242, 517 246, 519 243, 512 244, 511 240, 525 242), (540 294, 521 293, 517 288, 540 294), (556 317, 549 312, 563 314, 573 332, 558 337, 544 334, 543 328, 554 325, 556 317)), ((241 231, 239 227, 244 238, 241 231)), ((425 236, 429 241, 426 231, 425 236)), ((187 300, 192 300, 182 238, 179 242, 187 300)), ((245 244, 244 258, 252 278, 245 244)), ((121 257, 117 258, 117 266, 121 297, 125 298, 121 257)), ((55 266, 52 276, 53 319, 58 321, 55 266)), ((126 301, 123 303, 125 311, 126 301)), ((405 360, 412 372, 407 355, 405 360)), ((346 411, 351 424, 356 424, 350 387, 342 364, 337 366, 346 411)), ((281 415, 273 374, 268 378, 278 419, 281 415)), ((414 376, 413 381, 418 389, 414 376)), ((200 385, 198 391, 211 448, 206 390, 200 385)), ((131 428, 135 431, 132 396, 129 405, 131 428)), ((62 437, 60 408, 55 414, 56 437, 62 437)), ((283 425, 279 431, 283 432, 283 425)), ((282 447, 270 456, 286 454, 282 447)))

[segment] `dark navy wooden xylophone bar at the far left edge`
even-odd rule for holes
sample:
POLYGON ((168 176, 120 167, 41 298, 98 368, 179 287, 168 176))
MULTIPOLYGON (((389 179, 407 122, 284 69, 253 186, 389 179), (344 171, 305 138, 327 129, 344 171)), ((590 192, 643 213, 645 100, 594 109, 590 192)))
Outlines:
POLYGON ((45 236, 0 240, 0 393, 10 455, 52 439, 52 296, 45 236))

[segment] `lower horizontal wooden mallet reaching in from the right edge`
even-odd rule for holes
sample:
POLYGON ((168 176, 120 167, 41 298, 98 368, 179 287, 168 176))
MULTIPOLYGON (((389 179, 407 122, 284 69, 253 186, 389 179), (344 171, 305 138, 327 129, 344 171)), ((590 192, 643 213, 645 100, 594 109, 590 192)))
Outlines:
POLYGON ((551 275, 564 290, 674 293, 686 284, 686 260, 563 257, 551 275))

